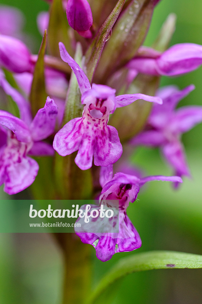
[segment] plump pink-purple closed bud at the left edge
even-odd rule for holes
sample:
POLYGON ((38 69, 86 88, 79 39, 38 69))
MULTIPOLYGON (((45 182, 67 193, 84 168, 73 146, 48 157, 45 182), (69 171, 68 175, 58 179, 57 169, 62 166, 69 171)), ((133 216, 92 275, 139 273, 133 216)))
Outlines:
POLYGON ((20 40, 0 35, 0 64, 16 73, 30 72, 33 64, 31 53, 20 40))

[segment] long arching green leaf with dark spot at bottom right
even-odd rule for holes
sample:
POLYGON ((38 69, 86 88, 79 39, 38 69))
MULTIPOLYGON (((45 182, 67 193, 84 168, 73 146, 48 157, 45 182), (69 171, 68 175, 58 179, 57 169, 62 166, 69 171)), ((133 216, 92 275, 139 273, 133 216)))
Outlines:
POLYGON ((202 255, 176 251, 149 251, 122 258, 98 283, 86 304, 94 303, 109 285, 132 272, 173 268, 202 268, 202 255))

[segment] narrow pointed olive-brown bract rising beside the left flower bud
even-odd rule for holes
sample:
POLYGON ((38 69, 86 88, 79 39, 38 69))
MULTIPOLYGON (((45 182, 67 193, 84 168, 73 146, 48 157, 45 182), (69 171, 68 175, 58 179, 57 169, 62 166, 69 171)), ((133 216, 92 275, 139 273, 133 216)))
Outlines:
POLYGON ((34 67, 33 81, 30 92, 30 103, 33 117, 37 111, 44 107, 47 93, 44 78, 44 55, 47 47, 47 30, 44 31, 43 40, 40 46, 38 59, 34 67))

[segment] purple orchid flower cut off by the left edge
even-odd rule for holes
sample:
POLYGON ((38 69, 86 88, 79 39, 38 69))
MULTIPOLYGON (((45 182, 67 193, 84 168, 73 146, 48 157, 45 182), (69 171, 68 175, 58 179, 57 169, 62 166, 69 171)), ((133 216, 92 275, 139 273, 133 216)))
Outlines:
POLYGON ((3 77, 0 77, 0 85, 12 96, 22 118, 0 110, 0 185, 5 184, 4 191, 11 195, 29 187, 37 176, 39 165, 28 155, 54 154, 53 148, 42 140, 54 131, 57 106, 47 97, 44 108, 39 109, 32 120, 29 104, 23 96, 3 77))

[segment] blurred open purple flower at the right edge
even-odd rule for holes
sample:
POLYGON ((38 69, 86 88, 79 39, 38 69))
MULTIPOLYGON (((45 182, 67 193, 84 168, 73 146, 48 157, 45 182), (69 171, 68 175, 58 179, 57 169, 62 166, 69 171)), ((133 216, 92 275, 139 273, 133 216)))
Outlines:
MULTIPOLYGON (((175 109, 178 102, 194 89, 190 85, 180 91, 175 86, 168 86, 158 91, 163 105, 154 105, 148 118, 147 129, 135 136, 131 143, 160 147, 163 156, 175 170, 176 175, 190 177, 180 136, 202 121, 201 106, 184 106, 175 109)), ((175 184, 178 186, 178 183, 175 184)))

